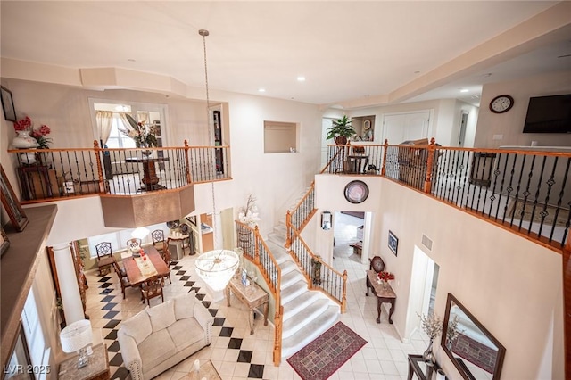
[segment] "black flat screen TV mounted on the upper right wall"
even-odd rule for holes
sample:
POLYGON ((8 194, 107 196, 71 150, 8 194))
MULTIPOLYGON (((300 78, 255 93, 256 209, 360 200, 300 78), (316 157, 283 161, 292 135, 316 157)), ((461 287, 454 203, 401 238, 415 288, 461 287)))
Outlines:
POLYGON ((530 98, 524 133, 571 133, 571 94, 530 98))

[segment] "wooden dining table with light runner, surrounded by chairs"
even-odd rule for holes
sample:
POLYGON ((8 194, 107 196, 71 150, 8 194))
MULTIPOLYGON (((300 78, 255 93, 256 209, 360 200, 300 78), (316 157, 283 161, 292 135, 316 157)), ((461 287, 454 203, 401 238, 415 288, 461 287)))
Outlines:
POLYGON ((161 253, 153 245, 143 247, 145 255, 135 257, 133 255, 123 258, 123 267, 127 274, 128 282, 133 285, 141 285, 154 276, 169 276, 170 268, 161 253), (143 258, 146 257, 146 260, 143 258), (148 261, 148 262, 146 262, 148 261))

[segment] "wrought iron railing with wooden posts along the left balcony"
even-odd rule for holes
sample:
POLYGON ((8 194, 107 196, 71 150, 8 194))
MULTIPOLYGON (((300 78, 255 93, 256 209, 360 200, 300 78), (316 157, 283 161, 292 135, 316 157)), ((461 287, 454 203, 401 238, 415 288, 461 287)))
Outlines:
POLYGON ((230 179, 228 146, 14 149, 21 202, 141 194, 230 179))

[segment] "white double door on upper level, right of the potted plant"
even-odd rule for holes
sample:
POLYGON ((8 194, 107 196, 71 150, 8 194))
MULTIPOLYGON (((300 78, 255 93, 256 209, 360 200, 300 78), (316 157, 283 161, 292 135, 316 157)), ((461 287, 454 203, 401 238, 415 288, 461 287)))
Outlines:
POLYGON ((383 142, 399 145, 403 141, 428 138, 431 132, 430 111, 391 113, 383 120, 383 142))

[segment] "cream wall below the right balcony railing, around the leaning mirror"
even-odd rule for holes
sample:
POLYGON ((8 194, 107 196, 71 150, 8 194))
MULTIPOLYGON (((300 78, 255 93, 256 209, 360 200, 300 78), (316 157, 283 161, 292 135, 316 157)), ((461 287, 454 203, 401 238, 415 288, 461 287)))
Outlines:
MULTIPOLYGON (((402 338, 418 324, 407 305, 415 303, 410 284, 419 247, 440 267, 434 312, 443 318, 447 294, 454 294, 506 347, 502 378, 563 378, 563 358, 550 355, 563 351, 560 254, 385 178, 365 178, 371 199, 351 205, 343 198, 351 179, 317 176, 317 207, 378 211, 372 251, 396 277, 393 321, 402 338), (398 256, 388 249, 389 229, 399 238, 398 256), (423 234, 432 251, 422 245, 423 234)), ((439 343, 434 348, 444 371, 460 378, 439 343)))

